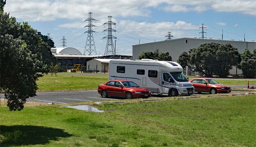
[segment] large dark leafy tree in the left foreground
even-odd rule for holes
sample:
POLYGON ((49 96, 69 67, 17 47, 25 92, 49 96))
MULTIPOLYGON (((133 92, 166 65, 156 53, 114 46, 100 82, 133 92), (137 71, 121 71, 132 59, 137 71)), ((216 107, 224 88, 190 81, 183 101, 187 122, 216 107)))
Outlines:
POLYGON ((35 96, 36 80, 56 62, 49 46, 27 22, 16 22, 3 13, 0 1, 0 89, 9 110, 22 110, 26 99, 35 96))

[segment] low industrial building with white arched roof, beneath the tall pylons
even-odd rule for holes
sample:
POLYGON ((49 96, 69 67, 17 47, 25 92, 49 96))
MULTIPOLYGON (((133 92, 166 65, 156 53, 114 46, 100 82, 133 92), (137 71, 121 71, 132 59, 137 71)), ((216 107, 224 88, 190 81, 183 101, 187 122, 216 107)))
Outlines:
MULTIPOLYGON (((79 50, 71 47, 51 48, 52 54, 60 63, 60 72, 67 72, 74 68, 74 65, 80 65, 81 72, 95 72, 96 65, 89 66, 87 70, 87 61, 91 59, 131 59, 132 55, 83 55, 79 50)), ((104 70, 104 67, 99 71, 104 70)), ((103 71, 104 72, 104 71, 103 71)))

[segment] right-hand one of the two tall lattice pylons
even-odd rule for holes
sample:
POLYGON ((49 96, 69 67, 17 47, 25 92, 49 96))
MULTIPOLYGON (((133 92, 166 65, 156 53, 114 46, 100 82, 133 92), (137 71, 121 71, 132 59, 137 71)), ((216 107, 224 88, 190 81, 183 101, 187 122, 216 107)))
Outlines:
POLYGON ((112 35, 112 32, 116 32, 116 30, 112 29, 112 24, 115 25, 116 23, 111 21, 111 17, 112 16, 108 16, 109 21, 104 23, 104 25, 108 24, 108 26, 109 26, 108 29, 104 30, 104 31, 108 32, 108 36, 103 37, 103 39, 108 39, 107 43, 106 43, 106 49, 105 49, 104 55, 115 55, 113 38, 116 39, 116 37, 112 35))

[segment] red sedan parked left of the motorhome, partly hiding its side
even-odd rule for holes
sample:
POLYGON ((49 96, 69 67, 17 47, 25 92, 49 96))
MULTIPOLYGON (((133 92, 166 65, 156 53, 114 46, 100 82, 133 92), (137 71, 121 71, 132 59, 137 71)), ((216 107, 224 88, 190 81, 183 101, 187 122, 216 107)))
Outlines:
POLYGON ((136 83, 128 80, 111 80, 98 86, 98 93, 102 97, 116 96, 126 99, 151 97, 150 90, 139 87, 136 83))

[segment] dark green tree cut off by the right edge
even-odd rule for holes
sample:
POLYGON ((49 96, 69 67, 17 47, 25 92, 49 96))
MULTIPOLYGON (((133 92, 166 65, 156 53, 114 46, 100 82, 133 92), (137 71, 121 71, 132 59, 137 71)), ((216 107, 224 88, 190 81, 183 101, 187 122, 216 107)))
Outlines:
POLYGON ((241 54, 241 62, 239 68, 245 78, 255 78, 256 77, 256 48, 251 53, 248 49, 245 49, 241 54))

